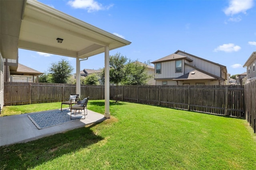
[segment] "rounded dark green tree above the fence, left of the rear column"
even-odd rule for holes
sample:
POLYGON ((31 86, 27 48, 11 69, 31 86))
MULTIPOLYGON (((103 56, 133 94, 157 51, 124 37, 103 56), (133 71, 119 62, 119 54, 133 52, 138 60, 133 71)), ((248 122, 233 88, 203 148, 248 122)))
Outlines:
POLYGON ((52 74, 52 82, 66 83, 73 70, 74 68, 65 59, 61 59, 57 63, 52 63, 49 68, 49 71, 52 74))

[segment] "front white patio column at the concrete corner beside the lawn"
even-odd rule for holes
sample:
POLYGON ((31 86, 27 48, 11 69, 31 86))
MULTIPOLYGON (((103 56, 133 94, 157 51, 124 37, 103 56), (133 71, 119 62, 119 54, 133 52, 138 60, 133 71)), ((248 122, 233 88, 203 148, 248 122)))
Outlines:
POLYGON ((109 98, 109 47, 105 46, 105 118, 110 118, 109 98))

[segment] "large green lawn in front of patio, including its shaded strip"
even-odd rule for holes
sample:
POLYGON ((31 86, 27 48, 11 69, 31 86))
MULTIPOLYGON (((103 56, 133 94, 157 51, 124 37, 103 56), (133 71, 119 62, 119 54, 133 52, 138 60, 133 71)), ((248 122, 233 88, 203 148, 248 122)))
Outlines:
MULTIPOLYGON (((104 113, 104 101, 88 109, 104 113)), ((1 169, 244 169, 256 167, 246 120, 110 102, 111 119, 0 147, 1 169)))

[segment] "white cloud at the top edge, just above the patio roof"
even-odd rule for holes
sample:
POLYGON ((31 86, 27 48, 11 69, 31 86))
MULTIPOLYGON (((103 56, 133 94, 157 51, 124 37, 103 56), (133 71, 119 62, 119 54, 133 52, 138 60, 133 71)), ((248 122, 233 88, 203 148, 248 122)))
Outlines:
POLYGON ((108 10, 113 6, 113 4, 110 4, 109 6, 103 6, 95 0, 70 0, 68 1, 68 5, 72 6, 73 8, 86 9, 87 12, 108 10))

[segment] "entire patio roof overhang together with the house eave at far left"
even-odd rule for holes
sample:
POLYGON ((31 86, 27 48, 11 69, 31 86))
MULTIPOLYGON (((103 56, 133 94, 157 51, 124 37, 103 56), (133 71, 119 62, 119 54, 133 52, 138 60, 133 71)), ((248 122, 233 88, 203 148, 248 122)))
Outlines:
POLYGON ((0 8, 6 59, 17 59, 18 48, 85 59, 131 43, 35 0, 0 1, 0 8))

